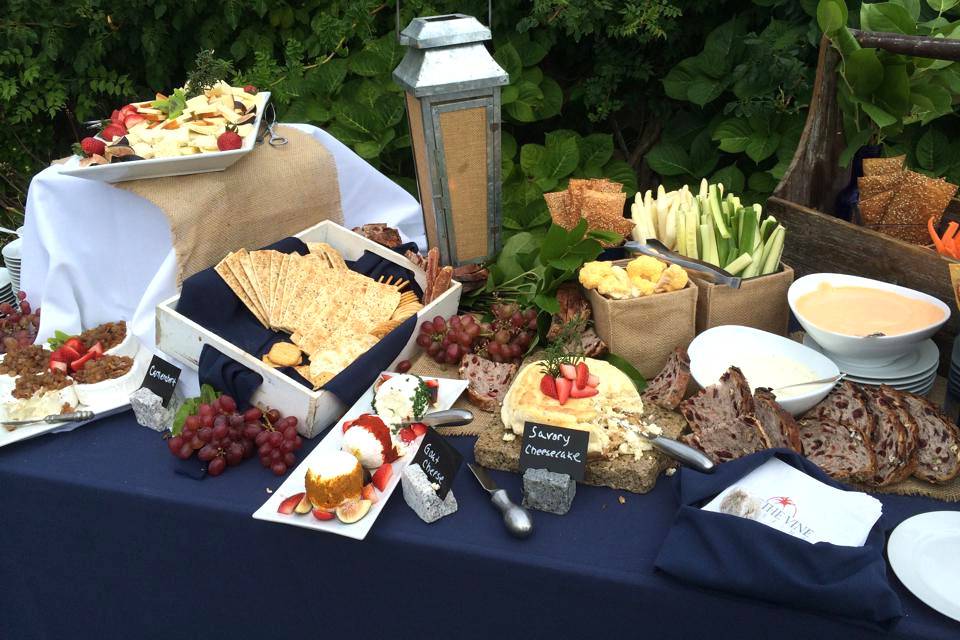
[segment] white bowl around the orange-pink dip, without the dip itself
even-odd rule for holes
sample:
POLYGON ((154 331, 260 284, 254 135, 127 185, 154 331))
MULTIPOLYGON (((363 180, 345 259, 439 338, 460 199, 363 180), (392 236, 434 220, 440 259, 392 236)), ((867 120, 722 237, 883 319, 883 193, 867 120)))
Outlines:
POLYGON ((940 327, 950 319, 950 307, 933 296, 895 284, 871 280, 870 278, 849 276, 842 273, 813 273, 799 280, 795 280, 787 291, 787 302, 790 304, 790 310, 793 311, 793 315, 797 317, 797 320, 803 326, 804 331, 810 334, 810 336, 817 341, 817 344, 823 347, 827 356, 865 367, 882 367, 906 355, 911 350, 916 349, 919 343, 935 334, 940 327), (896 336, 881 336, 877 338, 848 336, 842 333, 827 331, 807 320, 797 311, 796 305, 797 299, 800 298, 800 296, 815 291, 820 284, 824 282, 834 287, 868 287, 881 291, 892 291, 907 298, 923 300, 941 309, 943 311, 943 319, 923 329, 896 336))

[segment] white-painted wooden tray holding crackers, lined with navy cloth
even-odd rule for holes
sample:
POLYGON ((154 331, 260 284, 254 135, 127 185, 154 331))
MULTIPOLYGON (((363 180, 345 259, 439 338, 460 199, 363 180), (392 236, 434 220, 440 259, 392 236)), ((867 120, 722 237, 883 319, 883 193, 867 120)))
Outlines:
MULTIPOLYGON (((296 234, 304 242, 326 242, 339 251, 346 260, 357 260, 364 251, 370 251, 405 267, 414 273, 417 284, 424 290, 427 275, 405 257, 377 244, 372 240, 325 220, 318 225, 296 234)), ((456 315, 460 305, 461 285, 454 280, 447 291, 417 313, 417 322, 435 316, 449 318, 456 315)), ((266 366, 258 358, 199 324, 177 313, 177 294, 157 306, 157 347, 196 371, 199 368, 200 352, 209 344, 224 355, 230 356, 245 367, 263 376, 263 384, 253 394, 251 402, 278 409, 283 415, 297 416, 297 431, 305 438, 312 438, 343 415, 347 407, 335 395, 320 389, 313 391, 289 376, 266 366)), ((402 360, 413 357, 417 347, 417 332, 414 331, 406 346, 400 351, 389 369, 394 369, 402 360)))

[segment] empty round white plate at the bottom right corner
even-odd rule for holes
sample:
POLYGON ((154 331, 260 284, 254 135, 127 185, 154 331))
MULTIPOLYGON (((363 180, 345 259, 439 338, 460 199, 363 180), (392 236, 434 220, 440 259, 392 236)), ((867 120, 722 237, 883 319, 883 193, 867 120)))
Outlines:
POLYGON ((960 621, 960 512, 931 511, 904 520, 890 534, 887 556, 913 595, 960 621))

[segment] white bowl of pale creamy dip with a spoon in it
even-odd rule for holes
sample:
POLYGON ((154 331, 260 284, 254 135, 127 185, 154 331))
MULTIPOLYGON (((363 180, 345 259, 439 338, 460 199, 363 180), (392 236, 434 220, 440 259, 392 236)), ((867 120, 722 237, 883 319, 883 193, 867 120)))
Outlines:
MULTIPOLYGON (((758 363, 763 360, 769 362, 772 357, 792 360, 806 367, 813 372, 811 380, 840 375, 837 365, 810 347, 773 333, 738 325, 724 325, 704 331, 690 343, 687 353, 690 354, 690 373, 701 387, 714 384, 731 366, 740 367, 751 389, 789 384, 770 378, 769 372, 766 374, 768 377, 764 377, 764 373, 758 371, 758 363)), ((790 414, 797 416, 823 400, 833 385, 826 383, 797 387, 789 391, 789 397, 777 398, 777 402, 790 414)))

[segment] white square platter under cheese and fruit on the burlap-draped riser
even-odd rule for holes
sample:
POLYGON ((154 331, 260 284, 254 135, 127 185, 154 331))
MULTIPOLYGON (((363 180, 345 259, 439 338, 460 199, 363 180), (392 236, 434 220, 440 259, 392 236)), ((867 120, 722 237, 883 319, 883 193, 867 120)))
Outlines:
POLYGON ((110 164, 81 167, 80 159, 74 156, 63 165, 60 173, 74 178, 99 180, 100 182, 126 182, 145 178, 165 178, 184 176, 191 173, 211 173, 223 171, 240 158, 253 151, 260 133, 260 122, 270 100, 269 91, 257 94, 257 118, 253 121, 253 131, 243 140, 243 146, 232 151, 208 151, 192 156, 173 158, 150 158, 149 160, 131 160, 129 162, 111 162, 110 164), (262 97, 261 97, 262 96, 262 97))

